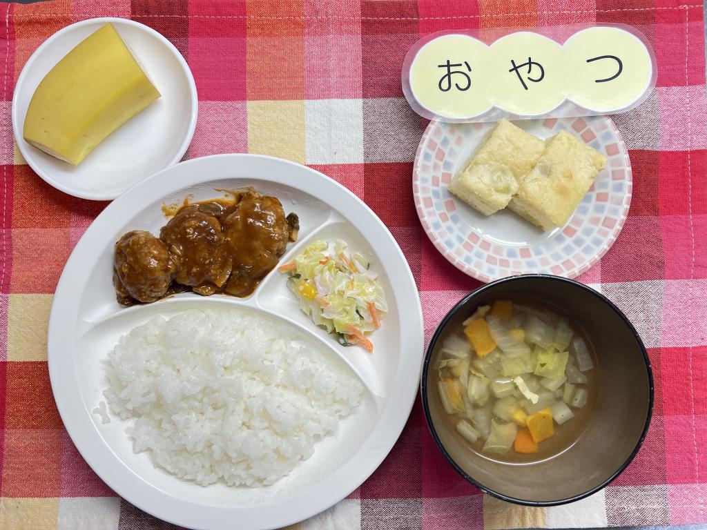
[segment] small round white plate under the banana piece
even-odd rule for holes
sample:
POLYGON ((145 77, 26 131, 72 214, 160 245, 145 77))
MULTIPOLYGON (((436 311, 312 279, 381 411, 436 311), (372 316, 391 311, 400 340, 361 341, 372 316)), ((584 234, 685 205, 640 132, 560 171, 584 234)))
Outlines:
POLYGON ((82 199, 110 200, 182 159, 197 126, 198 105, 192 71, 165 37, 125 18, 91 18, 57 31, 32 54, 15 86, 12 128, 20 152, 42 179, 82 199), (107 23, 115 26, 162 97, 120 126, 74 167, 25 142, 25 114, 47 72, 107 23))

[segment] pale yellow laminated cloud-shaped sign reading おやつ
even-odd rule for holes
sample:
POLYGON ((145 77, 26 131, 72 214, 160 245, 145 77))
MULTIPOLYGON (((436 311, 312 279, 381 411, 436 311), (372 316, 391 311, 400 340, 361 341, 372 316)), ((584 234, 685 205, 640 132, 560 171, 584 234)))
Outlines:
POLYGON ((410 50, 403 69, 411 107, 450 122, 625 112, 653 86, 653 50, 617 26, 586 28, 562 44, 525 31, 491 45, 437 34, 410 50))

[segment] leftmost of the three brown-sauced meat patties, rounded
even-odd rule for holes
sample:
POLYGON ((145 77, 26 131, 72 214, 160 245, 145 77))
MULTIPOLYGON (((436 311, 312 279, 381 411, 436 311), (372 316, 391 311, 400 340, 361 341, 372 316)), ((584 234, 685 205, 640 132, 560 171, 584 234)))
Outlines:
POLYGON ((133 230, 115 244, 113 285, 123 305, 159 300, 167 293, 174 271, 167 245, 150 232, 133 230))

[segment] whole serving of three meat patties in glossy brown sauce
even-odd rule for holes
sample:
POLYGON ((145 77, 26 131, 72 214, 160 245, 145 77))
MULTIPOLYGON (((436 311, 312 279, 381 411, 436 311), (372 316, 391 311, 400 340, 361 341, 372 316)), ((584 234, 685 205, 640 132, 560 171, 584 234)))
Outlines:
POLYGON ((160 237, 128 232, 115 246, 114 285, 122 305, 148 303, 192 290, 250 296, 297 239, 296 213, 252 187, 226 196, 163 205, 170 219, 160 237), (148 281, 147 281, 148 280, 148 281))

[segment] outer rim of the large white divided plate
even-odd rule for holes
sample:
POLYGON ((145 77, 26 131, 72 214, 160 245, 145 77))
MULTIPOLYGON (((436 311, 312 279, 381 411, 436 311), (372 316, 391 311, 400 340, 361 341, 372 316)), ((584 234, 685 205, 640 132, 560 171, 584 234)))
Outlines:
MULTIPOLYGON (((288 175, 287 171, 283 171, 276 178, 264 180, 291 185, 292 180, 288 179, 288 177, 291 177, 291 175, 288 175)), ((233 176, 228 178, 233 178, 233 176)), ((258 179, 255 172, 247 178, 258 179)), ((329 203, 327 202, 327 204, 329 203)), ((233 527, 233 517, 235 515, 241 517, 239 527, 244 529, 266 529, 286 526, 308 519, 308 517, 326 510, 358 488, 375 469, 378 469, 378 466, 390 452, 407 423, 417 396, 423 360, 423 346, 422 309, 414 277, 402 250, 395 242, 395 238, 392 237, 390 231, 378 216, 348 189, 320 172, 288 160, 267 155, 250 154, 211 155, 187 160, 156 173, 108 205, 86 230, 66 262, 62 276, 59 278, 54 302, 52 302, 47 335, 49 378, 52 383, 54 399, 57 402, 59 414, 64 421, 64 426, 69 432, 71 440, 74 441, 78 452, 81 453, 89 466, 110 488, 141 510, 173 524, 204 530, 230 529, 233 527), (327 196, 333 192, 341 197, 346 197, 346 204, 337 204, 337 206, 332 206, 332 208, 337 208, 339 211, 353 211, 359 214, 366 213, 365 216, 357 218, 361 222, 361 225, 357 225, 357 228, 361 233, 366 233, 367 239, 369 238, 368 234, 371 233, 367 230, 373 231, 375 237, 382 236, 382 230, 385 230, 385 234, 387 234, 385 252, 389 253, 388 257, 395 257, 395 259, 399 260, 399 269, 401 269, 399 274, 395 275, 395 278, 390 278, 394 288, 402 289, 402 292, 396 291, 397 295, 402 295, 402 298, 404 298, 403 300, 398 300, 398 307, 401 312, 400 320, 401 322, 407 322, 406 333, 401 334, 402 343, 400 348, 406 357, 415 355, 409 358, 409 362, 401 363, 395 375, 395 388, 391 391, 385 408, 380 412, 378 421, 363 446, 337 471, 316 485, 321 495, 314 495, 306 500, 294 495, 285 502, 281 502, 281 505, 276 506, 276 510, 272 506, 266 505, 266 508, 268 508, 267 512, 259 514, 257 519, 254 519, 251 515, 249 515, 248 519, 243 519, 241 514, 234 512, 233 507, 205 507, 203 505, 185 503, 183 500, 177 500, 175 497, 157 490, 157 488, 149 485, 133 473, 122 461, 115 457, 115 454, 103 442, 98 430, 95 428, 88 406, 83 403, 81 391, 78 390, 78 385, 74 383, 74 379, 77 377, 74 364, 62 362, 66 360, 66 355, 71 355, 71 352, 62 351, 62 345, 71 344, 71 336, 74 334, 72 330, 75 328, 71 315, 78 311, 80 301, 80 297, 72 295, 72 282, 76 281, 76 278, 82 274, 81 261, 83 257, 95 252, 93 251, 95 242, 105 241, 105 234, 112 233, 110 231, 111 223, 119 221, 122 208, 134 208, 139 211, 139 208, 151 204, 151 201, 171 192, 176 192, 201 182, 227 178, 218 177, 214 173, 209 174, 209 172, 199 171, 199 166, 211 160, 234 162, 236 159, 241 160, 245 164, 252 163, 253 167, 257 165, 259 159, 275 160, 281 163, 285 170, 289 169, 291 172, 299 172, 300 175, 308 174, 310 175, 308 182, 305 182, 304 179, 298 181, 299 187, 303 192, 314 196, 317 196, 317 194, 319 196, 322 196, 322 194, 327 196), (189 168, 192 171, 186 172, 184 168, 189 168)))

